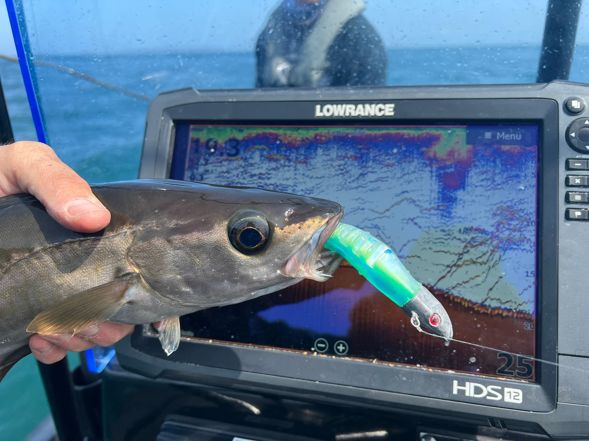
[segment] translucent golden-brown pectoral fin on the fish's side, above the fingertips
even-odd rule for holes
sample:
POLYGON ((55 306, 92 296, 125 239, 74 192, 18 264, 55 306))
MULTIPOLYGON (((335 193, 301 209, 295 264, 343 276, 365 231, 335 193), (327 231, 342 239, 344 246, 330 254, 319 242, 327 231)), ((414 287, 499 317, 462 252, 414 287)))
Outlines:
POLYGON ((125 304, 125 292, 140 282, 141 276, 133 272, 82 291, 39 313, 27 327, 27 332, 41 335, 75 334, 105 322, 125 304))

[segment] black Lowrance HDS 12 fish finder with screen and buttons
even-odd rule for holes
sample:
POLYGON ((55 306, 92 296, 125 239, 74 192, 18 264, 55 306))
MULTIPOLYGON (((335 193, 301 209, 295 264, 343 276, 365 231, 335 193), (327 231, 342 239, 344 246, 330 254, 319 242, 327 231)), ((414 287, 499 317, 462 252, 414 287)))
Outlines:
POLYGON ((418 332, 343 262, 327 282, 181 317, 170 356, 138 326, 118 363, 158 381, 589 438, 588 99, 571 82, 161 94, 140 178, 340 203, 343 222, 442 303, 454 340, 418 332))

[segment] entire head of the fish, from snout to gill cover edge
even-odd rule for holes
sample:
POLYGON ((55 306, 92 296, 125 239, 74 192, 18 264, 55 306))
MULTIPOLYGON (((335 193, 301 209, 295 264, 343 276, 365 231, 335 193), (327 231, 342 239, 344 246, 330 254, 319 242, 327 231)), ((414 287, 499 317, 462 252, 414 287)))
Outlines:
POLYGON ((239 303, 305 278, 324 281, 343 260, 323 248, 343 216, 336 202, 184 181, 125 188, 135 190, 141 212, 128 258, 155 292, 187 308, 239 303))

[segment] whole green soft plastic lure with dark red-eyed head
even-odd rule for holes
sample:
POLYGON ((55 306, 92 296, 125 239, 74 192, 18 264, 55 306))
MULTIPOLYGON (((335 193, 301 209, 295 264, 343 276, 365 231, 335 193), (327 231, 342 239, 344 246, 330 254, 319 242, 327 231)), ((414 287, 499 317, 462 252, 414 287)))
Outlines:
POLYGON ((340 223, 325 248, 336 252, 372 285, 401 306, 416 328, 422 326, 446 342, 452 339, 452 322, 444 306, 413 279, 391 248, 370 233, 340 223))

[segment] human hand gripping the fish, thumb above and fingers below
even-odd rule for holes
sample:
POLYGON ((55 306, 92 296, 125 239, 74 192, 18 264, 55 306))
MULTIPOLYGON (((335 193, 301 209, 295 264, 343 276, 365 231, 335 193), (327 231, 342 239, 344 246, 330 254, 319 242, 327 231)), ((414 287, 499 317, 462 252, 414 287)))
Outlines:
MULTIPOLYGON (((95 198, 88 183, 41 142, 0 146, 0 197, 15 193, 31 193, 52 218, 77 232, 96 232, 110 222, 110 212, 95 198)), ((133 325, 102 322, 74 336, 33 334, 29 347, 37 360, 50 364, 64 358, 68 350, 113 345, 133 329, 133 325)))

